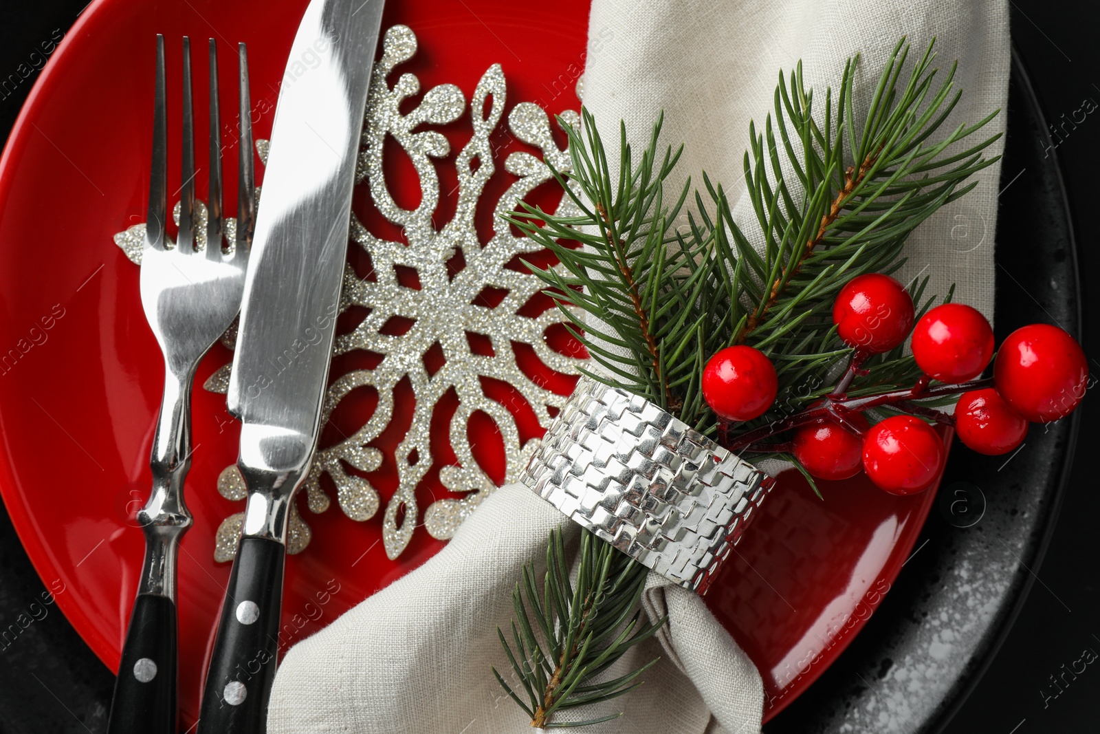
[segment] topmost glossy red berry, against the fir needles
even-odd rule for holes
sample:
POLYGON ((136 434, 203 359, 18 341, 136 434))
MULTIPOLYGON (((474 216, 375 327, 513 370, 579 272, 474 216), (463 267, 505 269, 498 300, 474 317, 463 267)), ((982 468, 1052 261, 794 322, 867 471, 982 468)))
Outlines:
POLYGON ((905 341, 913 326, 913 299, 889 275, 869 273, 848 281, 833 304, 836 332, 849 347, 877 354, 905 341))

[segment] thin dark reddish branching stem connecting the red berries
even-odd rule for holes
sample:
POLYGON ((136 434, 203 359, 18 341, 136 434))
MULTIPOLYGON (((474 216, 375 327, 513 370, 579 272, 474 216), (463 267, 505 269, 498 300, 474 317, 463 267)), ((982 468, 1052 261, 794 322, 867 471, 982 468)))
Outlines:
MULTIPOLYGON (((853 363, 856 362, 855 357, 856 355, 854 354, 853 363)), ((842 377, 839 383, 837 383, 837 387, 840 387, 842 384, 844 384, 848 374, 855 374, 851 364, 849 364, 848 372, 845 373, 845 376, 842 377)), ((850 384, 851 380, 848 380, 847 382, 850 384)), ((928 387, 928 377, 927 375, 924 375, 917 380, 916 384, 912 387, 905 390, 893 390, 878 395, 846 397, 838 395, 839 391, 837 390, 826 396, 818 405, 801 410, 800 413, 795 413, 794 415, 790 415, 781 420, 773 420, 767 425, 743 434, 733 440, 728 438, 728 427, 719 427, 718 438, 719 442, 734 453, 738 453, 740 451, 774 452, 781 450, 777 449, 777 446, 783 445, 760 443, 760 441, 765 441, 772 436, 778 436, 779 434, 788 431, 792 428, 798 428, 799 426, 824 418, 832 418, 854 432, 862 432, 857 426, 854 426, 853 421, 847 419, 847 417, 853 413, 861 413, 864 410, 883 405, 889 405, 902 410, 903 413, 935 420, 938 424, 952 426, 955 425, 954 416, 949 416, 943 410, 936 410, 935 408, 912 403, 911 401, 916 398, 923 399, 928 397, 941 397, 944 395, 957 395, 971 390, 982 390, 992 386, 993 380, 992 377, 988 377, 986 380, 974 380, 971 382, 965 382, 957 385, 936 385, 935 387, 928 387)), ((847 385, 845 385, 845 390, 847 390, 847 385)))

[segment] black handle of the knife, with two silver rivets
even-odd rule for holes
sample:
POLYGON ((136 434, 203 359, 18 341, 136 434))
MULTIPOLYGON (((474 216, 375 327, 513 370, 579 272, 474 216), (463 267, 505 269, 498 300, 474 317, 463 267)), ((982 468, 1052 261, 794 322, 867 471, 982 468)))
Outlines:
POLYGON ((275 678, 286 546, 241 538, 207 669, 198 734, 264 734, 275 678))

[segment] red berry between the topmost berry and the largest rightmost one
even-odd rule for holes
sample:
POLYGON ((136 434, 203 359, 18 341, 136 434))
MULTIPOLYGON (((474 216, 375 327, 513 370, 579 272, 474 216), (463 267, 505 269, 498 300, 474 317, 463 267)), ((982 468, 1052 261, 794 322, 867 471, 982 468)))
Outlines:
POLYGON ((913 359, 926 375, 956 384, 974 380, 993 355, 993 328, 977 308, 936 306, 913 327, 913 359))

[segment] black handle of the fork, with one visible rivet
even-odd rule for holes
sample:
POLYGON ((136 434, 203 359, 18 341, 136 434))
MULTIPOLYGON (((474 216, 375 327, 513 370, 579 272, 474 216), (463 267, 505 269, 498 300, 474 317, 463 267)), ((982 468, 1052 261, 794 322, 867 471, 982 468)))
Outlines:
POLYGON ((176 731, 176 604, 167 596, 139 594, 134 600, 107 731, 176 731))

